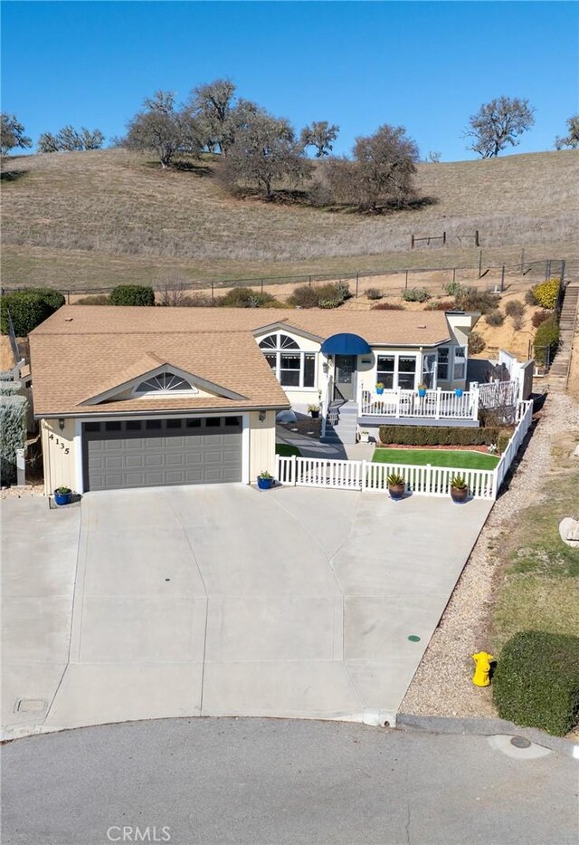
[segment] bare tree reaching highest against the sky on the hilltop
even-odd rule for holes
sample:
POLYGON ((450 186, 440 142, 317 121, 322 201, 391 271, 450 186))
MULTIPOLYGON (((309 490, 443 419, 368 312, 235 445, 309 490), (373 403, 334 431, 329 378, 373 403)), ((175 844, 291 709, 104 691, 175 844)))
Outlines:
POLYGON ((229 79, 216 79, 198 85, 191 92, 189 110, 195 117, 204 146, 226 154, 232 142, 231 118, 235 85, 229 79))

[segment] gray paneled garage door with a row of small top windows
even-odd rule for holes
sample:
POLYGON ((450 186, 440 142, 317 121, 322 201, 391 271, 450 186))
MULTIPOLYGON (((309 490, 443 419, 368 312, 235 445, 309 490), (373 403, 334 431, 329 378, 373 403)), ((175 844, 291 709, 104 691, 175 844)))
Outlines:
POLYGON ((82 426, 85 490, 242 480, 242 419, 131 419, 82 426))

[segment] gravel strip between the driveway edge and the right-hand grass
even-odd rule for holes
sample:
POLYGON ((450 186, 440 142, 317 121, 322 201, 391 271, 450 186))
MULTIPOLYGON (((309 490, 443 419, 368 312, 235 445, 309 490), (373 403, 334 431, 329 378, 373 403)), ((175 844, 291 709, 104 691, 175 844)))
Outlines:
POLYGON ((401 713, 441 716, 494 716, 490 687, 472 685, 471 655, 490 650, 486 641, 492 608, 495 555, 492 547, 517 513, 538 497, 537 478, 549 473, 558 437, 579 425, 574 398, 551 393, 509 489, 500 496, 470 554, 460 581, 413 678, 401 713))

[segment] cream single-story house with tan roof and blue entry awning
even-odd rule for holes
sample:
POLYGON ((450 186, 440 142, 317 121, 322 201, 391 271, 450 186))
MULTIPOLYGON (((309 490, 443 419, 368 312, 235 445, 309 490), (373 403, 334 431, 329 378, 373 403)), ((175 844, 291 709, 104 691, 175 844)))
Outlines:
POLYGON ((30 335, 46 493, 248 484, 274 472, 288 408, 321 406, 324 426, 340 408, 356 424, 441 425, 457 424, 459 402, 458 421, 478 425, 472 399, 453 392, 466 387, 478 316, 63 306, 30 335))

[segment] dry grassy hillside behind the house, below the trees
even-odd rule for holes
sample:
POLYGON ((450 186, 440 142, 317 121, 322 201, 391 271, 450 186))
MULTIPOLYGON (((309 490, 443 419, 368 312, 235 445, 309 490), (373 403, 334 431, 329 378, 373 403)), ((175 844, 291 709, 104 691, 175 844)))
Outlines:
POLYGON ((228 197, 213 165, 163 172, 125 150, 14 158, 3 173, 3 283, 66 288, 474 264, 460 235, 480 231, 490 261, 574 257, 579 153, 422 164, 435 202, 387 216, 228 197), (410 236, 446 230, 446 248, 410 236))

